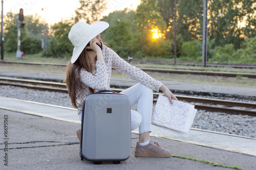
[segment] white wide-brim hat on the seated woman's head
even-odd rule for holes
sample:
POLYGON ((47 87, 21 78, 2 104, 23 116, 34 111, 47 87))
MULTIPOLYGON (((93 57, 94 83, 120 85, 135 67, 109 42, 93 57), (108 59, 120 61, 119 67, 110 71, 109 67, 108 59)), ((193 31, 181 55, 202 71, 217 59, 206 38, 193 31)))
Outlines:
POLYGON ((94 37, 108 27, 109 23, 105 21, 94 22, 91 25, 86 22, 77 22, 74 26, 72 26, 69 32, 69 39, 75 47, 73 50, 71 63, 73 64, 78 59, 88 42, 90 42, 94 37))

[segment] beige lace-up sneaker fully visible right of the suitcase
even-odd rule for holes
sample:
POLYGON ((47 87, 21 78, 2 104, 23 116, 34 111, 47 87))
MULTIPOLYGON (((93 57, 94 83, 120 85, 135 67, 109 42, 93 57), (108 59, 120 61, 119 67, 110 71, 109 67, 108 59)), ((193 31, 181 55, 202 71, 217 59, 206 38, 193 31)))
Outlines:
POLYGON ((170 157, 170 151, 161 148, 157 142, 150 140, 150 143, 144 146, 137 142, 135 156, 168 158, 170 157))

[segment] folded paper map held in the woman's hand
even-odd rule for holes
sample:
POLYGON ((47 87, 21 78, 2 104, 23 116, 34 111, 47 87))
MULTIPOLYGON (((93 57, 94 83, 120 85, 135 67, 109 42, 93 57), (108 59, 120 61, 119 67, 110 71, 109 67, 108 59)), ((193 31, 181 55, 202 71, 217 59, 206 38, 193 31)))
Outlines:
POLYGON ((194 105, 184 102, 175 100, 173 102, 174 104, 170 104, 168 98, 159 95, 151 123, 186 137, 197 109, 194 105))

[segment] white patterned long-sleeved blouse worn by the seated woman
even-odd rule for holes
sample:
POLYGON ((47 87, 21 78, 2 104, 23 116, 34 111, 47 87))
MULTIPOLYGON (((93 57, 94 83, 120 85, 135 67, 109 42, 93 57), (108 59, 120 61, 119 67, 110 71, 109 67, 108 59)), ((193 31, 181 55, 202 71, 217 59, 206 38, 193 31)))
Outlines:
POLYGON ((83 99, 90 94, 88 87, 96 91, 110 89, 112 68, 117 69, 126 77, 138 83, 142 83, 153 90, 159 91, 159 88, 163 85, 141 69, 124 61, 111 48, 105 45, 103 45, 102 54, 104 62, 96 62, 97 71, 93 70, 94 75, 83 68, 81 69, 80 79, 82 89, 79 90, 80 99, 77 100, 78 114, 82 112, 83 99))

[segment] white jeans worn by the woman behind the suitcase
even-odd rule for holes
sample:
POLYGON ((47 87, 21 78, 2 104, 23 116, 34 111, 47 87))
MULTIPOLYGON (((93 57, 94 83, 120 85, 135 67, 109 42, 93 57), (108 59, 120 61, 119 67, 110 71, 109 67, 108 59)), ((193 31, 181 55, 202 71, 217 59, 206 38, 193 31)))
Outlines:
MULTIPOLYGON (((137 103, 137 111, 131 110, 131 130, 139 127, 139 134, 151 132, 153 91, 139 83, 120 92, 130 98, 131 108, 137 103)), ((80 120, 82 114, 79 114, 80 120)))

